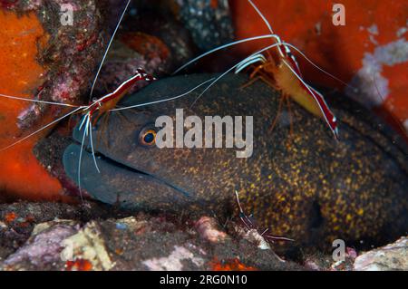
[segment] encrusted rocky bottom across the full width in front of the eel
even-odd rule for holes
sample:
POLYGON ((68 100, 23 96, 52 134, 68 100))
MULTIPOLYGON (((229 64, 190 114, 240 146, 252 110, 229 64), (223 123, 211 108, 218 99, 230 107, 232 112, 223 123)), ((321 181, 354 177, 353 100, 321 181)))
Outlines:
MULTIPOLYGON (((53 203, 0 205, 0 270, 350 270, 316 252, 282 262, 239 220, 148 215, 53 203), (6 221, 10 212, 12 222, 6 221), (25 213, 24 213, 25 212, 25 213), (25 215, 24 215, 25 214, 25 215), (30 222, 25 224, 27 215, 30 222), (92 217, 94 216, 94 217, 92 217), (229 229, 229 227, 231 227, 229 229), (239 229, 239 227, 242 227, 239 229), (211 233, 211 234, 209 234, 211 233), (215 235, 213 235, 215 234, 215 235), (216 236, 215 238, 209 236, 216 236), (218 237, 222 236, 222 237, 218 237), (252 236, 252 239, 251 239, 252 236), (247 240, 248 239, 248 240, 247 240), (249 241, 249 239, 251 239, 249 241)), ((259 235, 259 233, 255 234, 259 235)), ((408 237, 360 255, 355 270, 407 270, 408 237)), ((351 252, 351 251, 353 252, 351 252)), ((351 262, 350 262, 351 261, 351 262)))

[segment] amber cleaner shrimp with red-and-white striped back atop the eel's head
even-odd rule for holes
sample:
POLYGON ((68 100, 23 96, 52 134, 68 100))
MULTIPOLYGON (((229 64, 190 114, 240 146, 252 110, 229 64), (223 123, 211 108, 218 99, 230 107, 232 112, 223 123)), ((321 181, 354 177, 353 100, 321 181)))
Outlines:
POLYGON ((223 72, 214 82, 211 82, 209 84, 204 92, 200 93, 196 101, 198 101, 198 99, 209 90, 209 87, 214 85, 215 82, 218 82, 219 79, 225 76, 228 72, 234 71, 235 73, 238 73, 247 69, 253 64, 261 63, 251 73, 251 82, 260 79, 264 82, 267 82, 267 84, 271 84, 273 87, 283 92, 284 95, 291 97, 294 101, 303 106, 307 111, 324 119, 329 129, 333 132, 335 140, 338 140, 339 134, 335 114, 328 107, 323 95, 320 92, 317 92, 316 89, 314 89, 303 80, 302 73, 300 71, 299 65, 296 62, 295 55, 291 52, 290 49, 293 49, 297 53, 299 53, 306 59, 308 63, 311 63, 320 72, 324 72, 325 74, 334 78, 336 81, 342 82, 346 86, 350 87, 350 85, 317 66, 316 63, 313 63, 304 53, 297 49, 296 46, 290 43, 283 42, 280 37, 274 33, 271 24, 269 24, 267 18, 257 8, 257 5, 255 5, 251 0, 248 0, 248 4, 251 5, 255 9, 257 14, 262 18, 264 23, 267 25, 270 34, 258 35, 221 45, 213 50, 210 50, 207 53, 203 53, 198 57, 192 59, 191 61, 189 61, 189 63, 184 64, 174 73, 180 72, 190 64, 199 61, 201 58, 209 55, 210 53, 215 53, 228 47, 238 45, 240 43, 247 43, 270 38, 274 40, 275 43, 264 47, 255 53, 251 53, 247 58, 235 64, 226 72, 223 72), (270 56, 269 51, 272 49, 277 50, 277 55, 274 55, 275 57, 270 56), (264 53, 267 53, 269 56, 265 56, 264 53))

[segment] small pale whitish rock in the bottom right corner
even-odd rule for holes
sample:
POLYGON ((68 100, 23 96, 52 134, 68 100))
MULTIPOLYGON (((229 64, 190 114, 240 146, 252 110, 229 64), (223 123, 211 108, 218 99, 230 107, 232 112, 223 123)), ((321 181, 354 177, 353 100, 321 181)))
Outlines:
POLYGON ((355 259, 354 269, 358 271, 408 270, 408 237, 403 236, 355 259))

